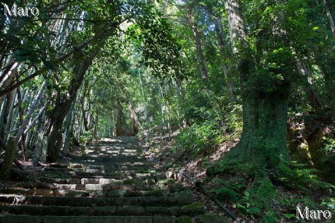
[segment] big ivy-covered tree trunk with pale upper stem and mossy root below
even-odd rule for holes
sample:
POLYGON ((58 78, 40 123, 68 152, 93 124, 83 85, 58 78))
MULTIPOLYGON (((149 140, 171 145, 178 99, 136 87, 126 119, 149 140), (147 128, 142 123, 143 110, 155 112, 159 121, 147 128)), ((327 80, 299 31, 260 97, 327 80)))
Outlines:
POLYGON ((257 53, 253 52, 239 2, 226 0, 225 8, 237 59, 243 107, 241 139, 227 157, 254 168, 249 196, 254 199, 255 206, 265 210, 259 222, 278 222, 276 210, 269 203, 276 197, 270 176, 281 174, 283 165, 289 160, 286 123, 292 54, 283 37, 279 36, 280 32, 273 30, 265 32, 262 39, 256 41, 260 45, 256 46, 257 53), (269 48, 269 44, 274 48, 269 48), (285 64, 288 69, 270 68, 269 64, 285 64))

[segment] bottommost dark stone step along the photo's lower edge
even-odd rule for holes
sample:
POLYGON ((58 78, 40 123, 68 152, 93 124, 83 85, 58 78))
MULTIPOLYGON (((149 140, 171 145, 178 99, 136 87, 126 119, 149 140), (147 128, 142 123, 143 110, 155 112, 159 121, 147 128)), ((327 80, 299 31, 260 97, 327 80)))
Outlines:
POLYGON ((1 215, 1 223, 175 223, 176 217, 1 215))

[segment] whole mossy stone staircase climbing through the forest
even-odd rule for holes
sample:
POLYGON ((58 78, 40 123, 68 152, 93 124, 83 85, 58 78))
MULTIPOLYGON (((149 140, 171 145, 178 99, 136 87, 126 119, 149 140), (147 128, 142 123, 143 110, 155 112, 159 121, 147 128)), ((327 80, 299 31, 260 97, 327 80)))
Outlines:
POLYGON ((50 164, 38 182, 0 191, 1 223, 175 223, 203 213, 191 190, 155 171, 126 137, 87 146, 68 164, 50 164))

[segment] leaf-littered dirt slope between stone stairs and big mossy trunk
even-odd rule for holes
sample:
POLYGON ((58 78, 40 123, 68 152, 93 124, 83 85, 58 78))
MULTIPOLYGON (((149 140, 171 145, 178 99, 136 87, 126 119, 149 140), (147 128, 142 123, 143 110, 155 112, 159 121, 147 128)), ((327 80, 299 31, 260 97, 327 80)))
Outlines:
MULTIPOLYGON (((154 137, 148 143, 142 141, 142 144, 147 148, 149 160, 155 163, 155 167, 161 171, 165 171, 168 177, 174 178, 178 183, 183 184, 185 188, 193 190, 194 199, 204 203, 207 212, 221 215, 225 217, 228 222, 237 222, 229 219, 214 201, 197 190, 197 187, 184 178, 179 171, 186 172, 195 182, 199 182, 210 192, 216 183, 207 177, 206 168, 209 167, 209 164, 220 159, 224 153, 230 151, 230 148, 237 144, 238 141, 239 137, 231 141, 226 141, 225 143, 215 146, 209 153, 193 158, 189 156, 187 151, 174 152, 175 139, 173 137, 169 138, 168 135, 165 137, 154 137)), ((236 208, 236 206, 229 201, 224 204, 230 210, 234 211, 236 208)), ((239 217, 239 220, 253 222, 250 219, 243 219, 241 217, 239 217)))

